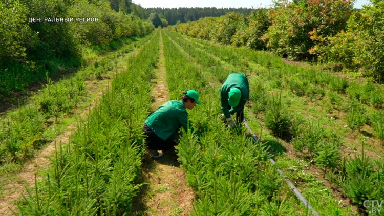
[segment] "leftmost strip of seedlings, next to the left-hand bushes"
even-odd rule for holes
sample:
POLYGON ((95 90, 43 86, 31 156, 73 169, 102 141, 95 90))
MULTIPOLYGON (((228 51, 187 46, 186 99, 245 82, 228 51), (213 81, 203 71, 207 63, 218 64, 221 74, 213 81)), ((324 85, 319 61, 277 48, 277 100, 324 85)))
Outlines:
MULTIPOLYGON (((133 47, 140 45, 147 39, 124 46, 124 49, 116 52, 130 52, 133 47)), ((115 60, 115 53, 104 53, 98 69, 100 73, 106 73, 111 59, 115 60)), ((48 73, 47 84, 28 101, 27 106, 20 106, 15 111, 7 112, 2 117, 0 124, 0 164, 20 162, 32 157, 37 149, 49 142, 47 134, 56 129, 56 123, 68 115, 71 116, 80 101, 86 97, 86 80, 93 80, 96 73, 94 65, 79 70, 72 77, 63 78, 53 82, 48 73)), ((98 76, 101 74, 98 74, 98 76)), ((96 77, 95 77, 96 78, 96 77)), ((50 135, 48 135, 50 137, 50 135)))

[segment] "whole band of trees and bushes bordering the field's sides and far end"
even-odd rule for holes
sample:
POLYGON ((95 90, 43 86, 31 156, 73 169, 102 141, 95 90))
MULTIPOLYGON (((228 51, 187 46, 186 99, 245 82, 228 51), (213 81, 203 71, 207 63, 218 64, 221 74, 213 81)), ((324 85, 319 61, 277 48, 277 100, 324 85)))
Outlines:
POLYGON ((275 1, 269 9, 144 9, 131 0, 2 0, 0 98, 47 74, 80 67, 84 47, 115 49, 123 38, 168 25, 188 36, 321 61, 332 70, 381 82, 384 3, 372 0, 361 10, 353 3, 295 0, 275 1), (36 19, 53 17, 63 20, 36 19))

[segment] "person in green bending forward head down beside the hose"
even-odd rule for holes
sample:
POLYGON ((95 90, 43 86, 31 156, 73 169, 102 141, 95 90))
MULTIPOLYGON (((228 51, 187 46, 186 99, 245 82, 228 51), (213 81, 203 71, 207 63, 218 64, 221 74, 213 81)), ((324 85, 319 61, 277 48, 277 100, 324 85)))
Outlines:
POLYGON ((236 113, 237 123, 244 121, 244 106, 249 100, 248 79, 243 74, 229 74, 220 89, 221 110, 230 127, 234 127, 231 115, 236 113))

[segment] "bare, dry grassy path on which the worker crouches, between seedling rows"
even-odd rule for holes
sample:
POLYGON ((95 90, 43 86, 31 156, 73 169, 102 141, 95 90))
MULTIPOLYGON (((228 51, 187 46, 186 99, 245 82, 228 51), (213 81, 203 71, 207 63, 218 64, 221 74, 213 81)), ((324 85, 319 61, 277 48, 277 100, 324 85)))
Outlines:
MULTIPOLYGON (((156 83, 151 92, 153 111, 169 100, 162 37, 159 52, 156 83)), ((180 168, 176 154, 165 153, 158 159, 152 159, 146 154, 142 170, 147 185, 142 188, 142 204, 136 206, 140 208, 136 210, 137 214, 140 212, 140 215, 189 215, 193 209, 194 192, 186 185, 185 174, 180 168)))

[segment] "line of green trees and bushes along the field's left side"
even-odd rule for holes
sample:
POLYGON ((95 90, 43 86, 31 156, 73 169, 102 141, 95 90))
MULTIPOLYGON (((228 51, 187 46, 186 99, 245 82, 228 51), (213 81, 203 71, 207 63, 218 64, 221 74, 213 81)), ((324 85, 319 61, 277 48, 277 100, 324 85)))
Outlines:
POLYGON ((79 67, 84 47, 154 30, 131 0, 2 0, 0 8, 0 98, 79 67))

